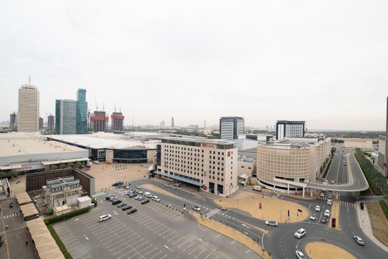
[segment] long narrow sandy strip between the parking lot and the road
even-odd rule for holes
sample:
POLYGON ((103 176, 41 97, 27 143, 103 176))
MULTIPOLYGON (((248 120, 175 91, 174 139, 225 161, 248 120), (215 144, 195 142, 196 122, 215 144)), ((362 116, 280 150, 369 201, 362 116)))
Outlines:
POLYGON ((260 256, 262 256, 262 254, 263 254, 262 247, 257 242, 258 238, 256 238, 256 242, 253 242, 253 238, 255 238, 255 237, 248 238, 246 235, 241 235, 241 232, 239 232, 237 230, 235 230, 235 234, 233 235, 233 226, 229 225, 229 227, 227 227, 225 224, 221 224, 220 222, 214 222, 214 220, 212 220, 212 221, 210 221, 208 219, 202 220, 201 216, 197 213, 193 213, 192 215, 197 218, 199 224, 206 226, 214 231, 217 231, 218 233, 221 233, 224 236, 232 238, 233 240, 236 240, 237 242, 242 243, 243 245, 245 245, 249 249, 256 252, 256 254, 259 254, 260 256))

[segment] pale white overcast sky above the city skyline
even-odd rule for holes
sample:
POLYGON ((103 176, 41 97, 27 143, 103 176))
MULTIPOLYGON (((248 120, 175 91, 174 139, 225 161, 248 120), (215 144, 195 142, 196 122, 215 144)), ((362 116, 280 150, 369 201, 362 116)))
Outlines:
POLYGON ((17 91, 55 99, 87 89, 90 111, 120 106, 125 124, 384 129, 388 1, 5 1, 0 120, 17 91))

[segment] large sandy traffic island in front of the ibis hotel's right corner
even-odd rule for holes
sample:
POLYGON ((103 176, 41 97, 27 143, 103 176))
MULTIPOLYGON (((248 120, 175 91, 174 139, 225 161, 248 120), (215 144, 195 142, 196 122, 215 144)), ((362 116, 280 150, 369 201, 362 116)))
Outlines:
MULTIPOLYGON (((229 199, 214 199, 218 205, 227 208, 237 208, 237 197, 229 199), (221 201, 220 201, 221 200, 221 201)), ((305 220, 308 217, 307 208, 294 202, 289 202, 282 199, 270 198, 267 196, 257 195, 255 193, 242 192, 239 193, 238 209, 249 212, 251 216, 258 219, 274 220, 277 222, 284 222, 287 218, 287 212, 290 211, 289 221, 297 222, 305 220), (259 203, 262 203, 262 209, 259 209, 259 203), (280 218, 280 208, 282 207, 282 217, 280 218), (296 212, 298 209, 302 210, 297 218, 296 212), (303 215, 303 216, 302 216, 303 215)))

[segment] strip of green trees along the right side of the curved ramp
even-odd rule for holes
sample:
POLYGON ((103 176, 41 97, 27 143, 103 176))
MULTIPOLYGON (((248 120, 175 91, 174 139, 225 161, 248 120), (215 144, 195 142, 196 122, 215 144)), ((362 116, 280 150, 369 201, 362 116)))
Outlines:
MULTIPOLYGON (((359 162, 361 162, 363 169, 366 171, 365 173, 369 174, 369 177, 372 179, 376 188, 386 199, 388 199, 388 183, 384 175, 365 157, 360 148, 356 148, 356 156, 359 159, 359 162)), ((371 187, 373 188, 373 186, 371 187)))

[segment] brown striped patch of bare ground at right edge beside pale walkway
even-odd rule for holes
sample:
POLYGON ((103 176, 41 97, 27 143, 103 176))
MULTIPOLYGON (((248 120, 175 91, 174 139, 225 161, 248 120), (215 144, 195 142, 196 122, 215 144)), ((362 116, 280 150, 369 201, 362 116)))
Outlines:
POLYGON ((365 202, 371 219, 373 235, 388 246, 388 219, 379 202, 365 202))

